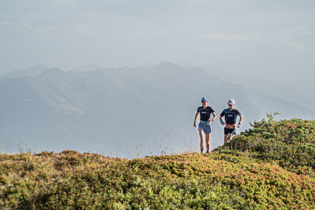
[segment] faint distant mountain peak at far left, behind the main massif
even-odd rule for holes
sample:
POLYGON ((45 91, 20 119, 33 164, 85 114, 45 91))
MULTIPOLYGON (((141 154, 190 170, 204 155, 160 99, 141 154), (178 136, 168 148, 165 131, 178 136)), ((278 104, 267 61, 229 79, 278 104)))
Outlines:
POLYGON ((47 69, 50 69, 50 67, 44 65, 43 63, 37 63, 35 66, 29 67, 28 69, 16 69, 9 73, 2 74, 0 76, 0 80, 5 77, 8 78, 20 78, 23 76, 36 77, 47 69))

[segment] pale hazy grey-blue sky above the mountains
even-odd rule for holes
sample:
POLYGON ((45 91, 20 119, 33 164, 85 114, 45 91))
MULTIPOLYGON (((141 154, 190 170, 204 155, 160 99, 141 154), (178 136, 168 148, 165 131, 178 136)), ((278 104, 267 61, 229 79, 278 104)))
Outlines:
POLYGON ((311 87, 314 11, 313 0, 3 0, 0 73, 188 61, 311 87))

